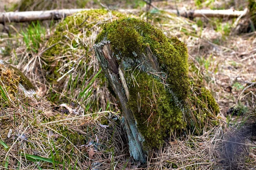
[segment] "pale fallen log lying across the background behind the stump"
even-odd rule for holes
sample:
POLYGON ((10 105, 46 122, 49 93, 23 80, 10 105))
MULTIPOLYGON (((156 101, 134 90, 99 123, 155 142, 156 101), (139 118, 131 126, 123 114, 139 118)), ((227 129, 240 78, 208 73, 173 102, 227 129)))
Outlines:
MULTIPOLYGON (((23 11, 23 12, 0 12, 0 23, 20 23, 36 20, 60 20, 64 17, 72 15, 79 11, 87 11, 86 9, 60 9, 60 10, 49 10, 49 11, 23 11)), ((119 12, 139 12, 138 9, 117 9, 119 12)), ((228 10, 176 10, 176 9, 167 9, 163 10, 172 14, 176 14, 182 17, 244 17, 246 16, 247 10, 236 11, 232 9, 228 10)))

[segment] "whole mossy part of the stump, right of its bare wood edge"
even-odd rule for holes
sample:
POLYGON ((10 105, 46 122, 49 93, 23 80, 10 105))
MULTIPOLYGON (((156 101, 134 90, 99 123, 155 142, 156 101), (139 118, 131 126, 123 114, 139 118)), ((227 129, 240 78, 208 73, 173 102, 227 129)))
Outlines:
POLYGON ((159 147, 175 130, 201 133, 207 124, 216 123, 219 108, 215 99, 205 88, 189 83, 188 53, 183 42, 134 18, 105 25, 96 43, 102 40, 110 41, 112 56, 125 73, 128 105, 146 146, 159 147), (141 60, 149 48, 159 68, 148 67, 141 60))

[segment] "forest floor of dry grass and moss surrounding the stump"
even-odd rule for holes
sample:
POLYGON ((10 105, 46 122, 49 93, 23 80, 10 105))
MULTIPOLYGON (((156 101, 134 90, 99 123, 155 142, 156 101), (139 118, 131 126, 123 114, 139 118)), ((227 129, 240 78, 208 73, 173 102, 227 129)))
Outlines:
POLYGON ((80 37, 81 32, 74 35, 72 29, 76 26, 71 28, 67 23, 64 25, 67 39, 58 43, 67 46, 68 51, 58 51, 61 55, 51 59, 47 58, 51 54, 47 52, 48 43, 57 34, 55 28, 65 20, 0 25, 0 60, 20 69, 35 86, 35 94, 32 92, 29 99, 13 95, 9 87, 13 80, 6 83, 3 75, 8 75, 8 71, 1 68, 0 169, 256 168, 255 134, 250 133, 250 138, 243 135, 256 122, 256 31, 250 20, 207 17, 189 20, 156 9, 244 10, 247 1, 165 0, 152 4, 146 12, 146 3, 140 0, 53 0, 50 5, 41 0, 3 0, 0 12, 140 9, 138 13, 125 15, 148 21, 166 36, 176 36, 187 44, 189 78, 212 92, 221 108, 220 125, 201 136, 170 139, 154 151, 146 165, 134 162, 120 121, 122 115, 108 92, 92 49, 101 29, 99 23, 118 17, 103 15, 96 23, 89 18, 87 22, 94 24, 93 33, 84 38, 80 37), (76 42, 76 46, 70 42, 76 42), (84 56, 88 59, 83 61, 84 56))

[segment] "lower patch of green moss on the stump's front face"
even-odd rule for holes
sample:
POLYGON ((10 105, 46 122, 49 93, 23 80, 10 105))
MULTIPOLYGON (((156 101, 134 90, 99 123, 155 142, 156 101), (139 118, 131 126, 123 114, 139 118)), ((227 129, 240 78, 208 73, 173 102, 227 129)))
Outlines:
MULTIPOLYGON (((165 85, 147 73, 135 71, 137 86, 129 85, 129 107, 138 122, 137 127, 145 138, 148 147, 159 147, 174 129, 184 127, 182 111, 165 85), (136 76, 137 75, 137 76, 136 76), (148 142, 151 141, 151 142, 148 142)), ((131 77, 128 77, 128 82, 131 77)))

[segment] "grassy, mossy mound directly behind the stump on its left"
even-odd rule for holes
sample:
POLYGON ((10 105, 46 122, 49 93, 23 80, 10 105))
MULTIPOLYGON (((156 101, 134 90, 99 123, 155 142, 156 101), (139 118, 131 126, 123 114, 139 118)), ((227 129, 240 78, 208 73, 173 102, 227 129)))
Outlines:
POLYGON ((118 12, 98 9, 76 13, 59 23, 42 54, 46 80, 52 88, 50 101, 90 103, 93 111, 106 108, 108 91, 104 75, 98 74, 93 44, 103 24, 122 17, 118 12))

